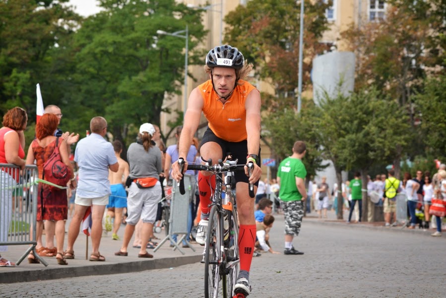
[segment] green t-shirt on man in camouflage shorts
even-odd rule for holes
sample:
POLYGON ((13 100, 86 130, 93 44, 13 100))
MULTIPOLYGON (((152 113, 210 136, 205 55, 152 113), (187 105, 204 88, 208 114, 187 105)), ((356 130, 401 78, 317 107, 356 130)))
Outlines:
POLYGON ((280 177, 279 198, 282 201, 301 201, 302 194, 296 186, 296 177, 305 179, 307 170, 302 160, 298 158, 285 158, 279 165, 277 176, 280 177))

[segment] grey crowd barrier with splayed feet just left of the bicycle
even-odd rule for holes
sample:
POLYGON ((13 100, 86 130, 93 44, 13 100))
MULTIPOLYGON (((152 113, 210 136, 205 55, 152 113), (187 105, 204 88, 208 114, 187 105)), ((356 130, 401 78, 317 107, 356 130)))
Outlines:
MULTIPOLYGON (((180 248, 180 243, 185 240, 192 251, 195 249, 191 246, 191 244, 185 239, 188 231, 188 216, 189 216, 189 199, 191 196, 195 195, 191 193, 191 175, 184 176, 184 186, 186 193, 184 195, 180 194, 179 187, 177 182, 173 182, 172 188, 172 200, 170 203, 170 218, 169 218, 169 233, 168 235, 155 247, 153 252, 156 252, 158 248, 161 247, 167 240, 174 243, 174 250, 178 249, 182 254, 185 252, 180 248), (182 235, 176 242, 172 238, 172 235, 182 235)), ((195 183, 195 182, 193 182, 195 183)))

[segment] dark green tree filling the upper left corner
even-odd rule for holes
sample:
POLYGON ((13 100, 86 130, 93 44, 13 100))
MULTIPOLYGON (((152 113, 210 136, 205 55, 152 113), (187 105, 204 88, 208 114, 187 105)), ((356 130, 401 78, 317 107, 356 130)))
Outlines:
MULTIPOLYGON (((68 0, 0 0, 0 112, 20 106, 30 124, 36 115, 36 84, 44 103, 60 105, 68 82, 64 56, 81 18, 68 0)), ((27 144, 34 134, 29 132, 27 144)))

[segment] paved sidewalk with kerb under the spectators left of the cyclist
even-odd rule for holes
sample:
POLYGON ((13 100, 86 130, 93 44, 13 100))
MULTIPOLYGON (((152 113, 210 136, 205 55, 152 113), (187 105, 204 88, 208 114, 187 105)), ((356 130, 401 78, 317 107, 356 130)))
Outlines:
MULTIPOLYGON (((65 230, 68 230, 68 222, 65 225, 65 230)), ((120 274, 177 267, 201 261, 203 248, 199 244, 192 244, 195 248, 195 252, 193 252, 191 248, 182 248, 185 252, 183 255, 178 250, 173 251, 173 248, 169 247, 169 241, 163 243, 155 253, 153 252, 153 249, 147 249, 147 252, 153 255, 152 259, 138 258, 139 248, 133 248, 131 246, 133 238, 128 247, 128 256, 115 256, 115 252, 119 251, 121 248, 124 230, 125 225, 122 225, 118 231, 121 240, 113 240, 112 232, 109 232, 107 237, 101 238, 99 251, 101 252, 101 255, 105 256, 105 262, 91 262, 88 260, 91 253, 91 238, 88 239, 89 247, 86 259, 86 235, 80 231, 74 244, 75 259, 67 259, 68 265, 58 265, 56 257, 44 258, 48 263, 47 267, 42 263, 29 264, 28 259, 25 258, 18 266, 0 267, 0 284, 53 280, 88 275, 120 274)), ((160 240, 154 241, 161 243, 162 239, 165 238, 165 233, 164 231, 155 233, 155 236, 160 238, 160 240)), ((45 238, 45 235, 43 238, 45 238)), ((67 234, 65 233, 65 248, 66 238, 67 234)), ((43 239, 43 243, 45 244, 45 239, 43 239)), ((16 263, 23 253, 26 252, 28 247, 28 245, 9 245, 8 251, 2 252, 1 255, 5 259, 16 263)))

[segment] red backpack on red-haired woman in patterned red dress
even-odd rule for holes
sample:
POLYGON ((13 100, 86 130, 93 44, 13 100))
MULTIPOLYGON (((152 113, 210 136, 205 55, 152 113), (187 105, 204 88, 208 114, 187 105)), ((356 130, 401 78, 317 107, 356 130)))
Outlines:
MULTIPOLYGON (((42 179, 59 186, 66 186, 70 179, 70 170, 62 162, 61 153, 59 152, 59 138, 56 138, 56 146, 50 157, 43 164, 42 179)), ((48 185, 51 191, 59 190, 59 188, 48 185)))

